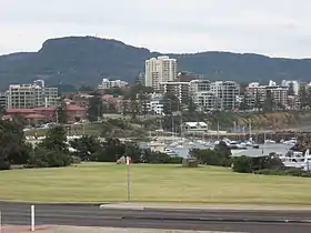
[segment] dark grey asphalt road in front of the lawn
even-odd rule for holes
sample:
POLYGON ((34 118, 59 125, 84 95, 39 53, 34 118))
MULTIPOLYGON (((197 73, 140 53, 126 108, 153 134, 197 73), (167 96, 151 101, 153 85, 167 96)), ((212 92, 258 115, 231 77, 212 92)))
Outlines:
MULTIPOLYGON (((0 202, 0 210, 4 225, 30 223, 30 204, 0 202)), ((88 204, 36 204, 36 224, 310 233, 311 211, 120 210, 88 204)))

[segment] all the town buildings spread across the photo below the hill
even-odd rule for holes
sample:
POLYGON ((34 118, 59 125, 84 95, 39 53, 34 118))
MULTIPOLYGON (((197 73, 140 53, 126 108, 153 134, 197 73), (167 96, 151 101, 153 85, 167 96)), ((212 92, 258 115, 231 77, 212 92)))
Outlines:
MULTIPOLYGON (((259 82, 249 83, 241 88, 234 81, 210 81, 204 77, 189 72, 178 72, 178 61, 168 55, 151 58, 146 61, 144 73, 140 73, 138 81, 152 88, 144 100, 144 108, 149 114, 163 114, 163 99, 165 94, 173 94, 181 104, 190 100, 201 111, 238 111, 241 104, 249 110, 263 105, 268 98, 278 108, 295 110, 300 108, 299 91, 301 83, 295 80, 284 80, 280 84, 270 81, 267 85, 259 82)), ((122 95, 107 94, 109 89, 128 89, 129 83, 122 80, 103 79, 98 85, 102 93, 102 101, 107 111, 124 113, 131 111, 130 100, 122 95)), ((86 119, 90 93, 71 93, 66 99, 70 121, 86 119)), ((0 93, 0 105, 6 109, 6 115, 22 114, 27 119, 43 119, 58 121, 57 107, 59 104, 58 88, 46 87, 43 80, 36 80, 28 84, 11 84, 0 93)))

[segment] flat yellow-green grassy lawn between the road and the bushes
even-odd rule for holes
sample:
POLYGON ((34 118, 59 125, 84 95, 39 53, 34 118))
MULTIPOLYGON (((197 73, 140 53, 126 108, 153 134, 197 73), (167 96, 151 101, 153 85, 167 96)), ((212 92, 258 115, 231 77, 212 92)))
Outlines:
MULTIPOLYGON (((0 200, 126 201, 127 170, 112 163, 0 172, 0 200)), ((311 179, 238 174, 230 169, 133 164, 132 201, 311 204, 311 179)))

